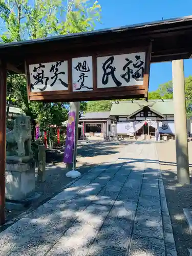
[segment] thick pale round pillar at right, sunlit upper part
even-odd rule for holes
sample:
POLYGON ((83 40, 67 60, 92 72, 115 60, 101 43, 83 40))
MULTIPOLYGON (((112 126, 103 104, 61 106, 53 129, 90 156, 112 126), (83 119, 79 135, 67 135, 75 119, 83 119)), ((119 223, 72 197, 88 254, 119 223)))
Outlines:
POLYGON ((174 119, 176 135, 177 180, 185 185, 190 183, 187 122, 185 105, 185 82, 183 60, 172 61, 173 95, 174 95, 174 119))

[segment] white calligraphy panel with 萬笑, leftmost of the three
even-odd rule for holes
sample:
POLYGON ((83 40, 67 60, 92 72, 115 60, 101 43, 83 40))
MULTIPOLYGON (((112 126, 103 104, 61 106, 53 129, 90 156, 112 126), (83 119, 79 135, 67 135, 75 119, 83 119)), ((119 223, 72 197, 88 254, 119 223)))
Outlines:
POLYGON ((68 61, 29 65, 31 92, 68 90, 68 61))

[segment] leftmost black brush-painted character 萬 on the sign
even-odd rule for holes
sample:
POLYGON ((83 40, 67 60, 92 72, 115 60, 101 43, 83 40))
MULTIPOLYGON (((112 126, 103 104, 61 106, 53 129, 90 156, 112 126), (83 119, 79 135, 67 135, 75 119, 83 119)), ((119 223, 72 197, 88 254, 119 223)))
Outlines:
MULTIPOLYGON (((38 67, 34 67, 33 72, 37 72, 36 75, 33 75, 33 78, 35 80, 34 83, 31 83, 31 89, 34 90, 34 87, 41 83, 41 84, 45 84, 44 88, 38 88, 41 92, 45 91, 47 89, 47 82, 49 80, 48 76, 44 76, 44 69, 45 65, 41 65, 41 63, 39 64, 38 67)), ((32 75, 32 73, 31 73, 32 75)))

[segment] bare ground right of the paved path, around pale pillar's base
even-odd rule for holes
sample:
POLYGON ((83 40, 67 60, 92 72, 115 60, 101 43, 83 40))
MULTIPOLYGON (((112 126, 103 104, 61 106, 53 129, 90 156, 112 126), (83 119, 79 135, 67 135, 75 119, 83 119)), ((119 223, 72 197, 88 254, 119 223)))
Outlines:
MULTIPOLYGON (((189 255, 188 248, 192 249, 192 234, 186 223, 183 208, 192 207, 192 184, 177 184, 175 141, 156 143, 156 146, 178 256, 186 256, 189 255)), ((188 149, 191 174, 192 142, 188 143, 188 149)))

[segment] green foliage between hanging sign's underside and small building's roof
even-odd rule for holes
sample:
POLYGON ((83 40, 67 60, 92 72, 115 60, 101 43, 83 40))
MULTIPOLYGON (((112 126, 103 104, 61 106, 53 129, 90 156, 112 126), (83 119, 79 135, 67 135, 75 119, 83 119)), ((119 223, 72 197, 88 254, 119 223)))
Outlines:
POLYGON ((87 105, 87 112, 110 111, 111 106, 111 100, 89 101, 87 105))

